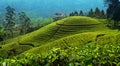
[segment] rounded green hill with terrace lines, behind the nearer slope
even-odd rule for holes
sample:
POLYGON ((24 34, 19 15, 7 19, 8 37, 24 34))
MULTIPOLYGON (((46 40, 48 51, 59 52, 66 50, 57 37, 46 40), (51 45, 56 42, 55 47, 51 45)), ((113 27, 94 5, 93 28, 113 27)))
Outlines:
POLYGON ((18 55, 26 50, 45 45, 63 37, 106 29, 97 19, 80 16, 68 17, 32 33, 2 42, 0 54, 7 56, 18 55))

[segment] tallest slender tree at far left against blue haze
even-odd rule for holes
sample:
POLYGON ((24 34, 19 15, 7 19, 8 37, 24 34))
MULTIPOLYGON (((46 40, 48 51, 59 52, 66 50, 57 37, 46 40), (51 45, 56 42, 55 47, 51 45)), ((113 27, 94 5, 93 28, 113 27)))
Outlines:
POLYGON ((9 30, 11 32, 13 38, 13 27, 15 26, 15 9, 7 6, 6 7, 6 23, 5 23, 5 30, 9 30))

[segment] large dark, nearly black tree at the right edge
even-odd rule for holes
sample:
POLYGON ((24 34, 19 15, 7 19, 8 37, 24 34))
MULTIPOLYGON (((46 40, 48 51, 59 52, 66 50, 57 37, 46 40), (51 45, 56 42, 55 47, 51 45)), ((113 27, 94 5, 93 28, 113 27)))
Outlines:
POLYGON ((119 0, 104 0, 105 4, 108 5, 107 8, 107 18, 114 20, 114 27, 118 26, 118 22, 120 21, 120 2, 119 0))

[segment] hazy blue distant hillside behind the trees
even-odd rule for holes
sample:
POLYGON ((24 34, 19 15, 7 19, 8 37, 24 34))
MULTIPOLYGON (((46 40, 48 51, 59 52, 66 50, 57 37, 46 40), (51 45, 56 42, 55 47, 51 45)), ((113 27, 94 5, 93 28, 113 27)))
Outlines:
POLYGON ((0 0, 0 10, 10 5, 17 11, 25 11, 30 16, 49 17, 56 12, 68 14, 74 10, 88 11, 90 8, 105 9, 103 0, 0 0))

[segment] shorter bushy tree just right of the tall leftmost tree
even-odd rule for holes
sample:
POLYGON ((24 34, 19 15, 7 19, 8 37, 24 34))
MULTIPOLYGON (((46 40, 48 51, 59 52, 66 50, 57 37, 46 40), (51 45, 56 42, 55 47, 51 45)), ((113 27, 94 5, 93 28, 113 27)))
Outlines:
POLYGON ((25 14, 25 12, 20 12, 19 14, 19 21, 21 22, 20 26, 20 34, 26 34, 29 32, 31 25, 30 25, 30 18, 25 14))

